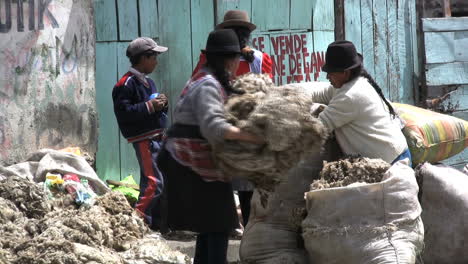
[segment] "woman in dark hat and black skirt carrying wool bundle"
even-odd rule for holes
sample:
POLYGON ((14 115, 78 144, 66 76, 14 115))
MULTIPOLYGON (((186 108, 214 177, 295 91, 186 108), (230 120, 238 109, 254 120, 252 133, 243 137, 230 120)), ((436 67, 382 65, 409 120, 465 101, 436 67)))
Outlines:
POLYGON ((211 146, 225 139, 261 143, 229 124, 224 101, 239 64, 239 41, 230 29, 208 36, 207 62, 186 84, 158 159, 167 175, 168 226, 199 233, 194 263, 226 262, 228 236, 238 224, 230 179, 216 169, 211 146))

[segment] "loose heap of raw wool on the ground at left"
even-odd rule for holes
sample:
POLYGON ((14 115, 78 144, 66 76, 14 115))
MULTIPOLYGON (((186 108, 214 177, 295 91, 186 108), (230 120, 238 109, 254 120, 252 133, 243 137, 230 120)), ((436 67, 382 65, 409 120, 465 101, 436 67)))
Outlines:
POLYGON ((141 257, 135 245, 148 243, 149 229, 123 194, 108 192, 90 208, 68 200, 49 200, 44 186, 28 179, 0 181, 0 263, 189 263, 160 239, 152 240, 159 256, 141 257))

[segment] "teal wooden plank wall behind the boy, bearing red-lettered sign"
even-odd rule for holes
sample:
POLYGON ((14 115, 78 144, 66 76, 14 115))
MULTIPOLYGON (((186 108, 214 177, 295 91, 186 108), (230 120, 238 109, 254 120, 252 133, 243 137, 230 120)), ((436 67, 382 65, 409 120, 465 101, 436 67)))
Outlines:
POLYGON ((139 175, 134 150, 119 133, 111 99, 113 85, 128 69, 125 48, 132 39, 152 37, 169 47, 150 77, 169 97, 170 107, 198 62, 208 33, 227 10, 246 10, 257 24, 251 44, 271 54, 278 84, 325 80, 321 66, 326 47, 334 41, 331 0, 94 0, 94 8, 100 120, 96 163, 102 179, 139 175))

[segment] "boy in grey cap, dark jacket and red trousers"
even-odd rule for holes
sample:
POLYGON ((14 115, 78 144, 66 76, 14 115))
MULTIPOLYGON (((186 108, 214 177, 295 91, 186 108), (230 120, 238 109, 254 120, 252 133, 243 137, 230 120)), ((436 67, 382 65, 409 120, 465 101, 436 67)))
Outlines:
POLYGON ((154 71, 157 56, 165 51, 167 47, 159 46, 151 38, 133 40, 126 53, 132 66, 112 91, 120 132, 133 144, 140 165, 140 195, 135 207, 153 229, 157 229, 161 221, 156 207, 164 179, 156 165, 156 157, 167 118, 168 101, 146 75, 154 71))

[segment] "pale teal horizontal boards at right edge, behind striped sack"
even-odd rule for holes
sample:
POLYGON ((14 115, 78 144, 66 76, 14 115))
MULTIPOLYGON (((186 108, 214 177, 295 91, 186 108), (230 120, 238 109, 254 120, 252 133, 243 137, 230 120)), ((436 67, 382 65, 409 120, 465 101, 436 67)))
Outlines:
MULTIPOLYGON (((424 18, 425 73, 427 97, 450 91, 437 110, 468 120, 468 17, 424 18)), ((468 150, 444 161, 462 166, 468 150)))

